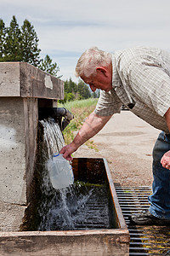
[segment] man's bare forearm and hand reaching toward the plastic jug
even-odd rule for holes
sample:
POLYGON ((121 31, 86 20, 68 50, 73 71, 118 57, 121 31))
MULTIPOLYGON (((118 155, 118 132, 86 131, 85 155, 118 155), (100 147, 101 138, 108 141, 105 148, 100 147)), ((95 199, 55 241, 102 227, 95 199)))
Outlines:
POLYGON ((94 135, 105 126, 109 119, 111 119, 111 116, 99 116, 94 112, 90 113, 72 143, 62 148, 60 154, 63 154, 65 159, 72 160, 71 154, 83 143, 87 142, 89 138, 94 137, 94 135))

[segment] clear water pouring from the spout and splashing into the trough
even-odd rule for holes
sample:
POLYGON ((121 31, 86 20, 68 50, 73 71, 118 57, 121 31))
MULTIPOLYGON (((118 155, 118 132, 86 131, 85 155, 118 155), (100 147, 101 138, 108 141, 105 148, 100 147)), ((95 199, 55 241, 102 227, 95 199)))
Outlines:
POLYGON ((38 230, 109 229, 108 191, 104 184, 76 182, 66 189, 56 190, 48 176, 46 162, 65 144, 59 125, 54 119, 41 120, 43 129, 40 143, 41 202, 38 207, 38 230))

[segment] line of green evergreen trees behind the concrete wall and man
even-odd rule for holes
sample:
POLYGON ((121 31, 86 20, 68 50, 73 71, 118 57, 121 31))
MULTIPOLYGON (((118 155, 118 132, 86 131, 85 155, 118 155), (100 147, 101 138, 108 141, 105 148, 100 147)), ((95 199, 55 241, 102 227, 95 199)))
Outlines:
MULTIPOLYGON (((0 19, 0 61, 24 61, 60 79, 62 75, 58 75, 59 66, 49 55, 41 58, 38 42, 37 32, 29 20, 24 20, 20 27, 15 16, 12 17, 9 26, 5 26, 0 19)), ((65 81, 64 102, 92 96, 98 97, 99 94, 91 93, 88 85, 82 80, 79 80, 78 84, 71 79, 65 81)))

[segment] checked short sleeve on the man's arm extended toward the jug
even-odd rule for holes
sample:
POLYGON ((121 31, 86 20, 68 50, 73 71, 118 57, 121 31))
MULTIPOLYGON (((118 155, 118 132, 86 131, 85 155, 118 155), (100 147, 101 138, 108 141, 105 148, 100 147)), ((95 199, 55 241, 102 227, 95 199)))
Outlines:
POLYGON ((114 90, 109 92, 105 92, 104 90, 100 90, 99 101, 94 110, 94 113, 99 116, 110 116, 114 113, 120 113, 122 107, 122 102, 116 96, 114 90))

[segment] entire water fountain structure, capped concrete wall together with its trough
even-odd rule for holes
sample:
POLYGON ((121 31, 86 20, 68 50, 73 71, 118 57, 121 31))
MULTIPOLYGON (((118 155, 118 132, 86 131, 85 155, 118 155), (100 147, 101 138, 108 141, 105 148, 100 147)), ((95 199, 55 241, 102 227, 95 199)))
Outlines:
POLYGON ((128 255, 129 233, 105 159, 75 159, 72 166, 76 180, 108 184, 114 228, 18 231, 36 196, 38 110, 57 107, 64 83, 27 63, 0 63, 0 73, 0 255, 128 255))

